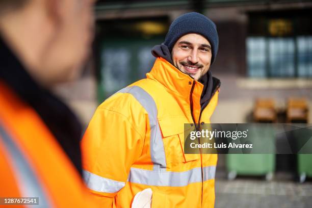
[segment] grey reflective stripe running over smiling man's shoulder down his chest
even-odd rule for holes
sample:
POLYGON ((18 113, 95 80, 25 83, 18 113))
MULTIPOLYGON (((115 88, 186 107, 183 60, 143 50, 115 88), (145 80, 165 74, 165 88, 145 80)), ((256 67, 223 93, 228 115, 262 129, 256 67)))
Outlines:
POLYGON ((154 99, 142 88, 132 86, 123 88, 119 92, 132 94, 148 114, 150 124, 150 157, 154 163, 154 170, 166 170, 166 154, 157 118, 157 106, 154 99))

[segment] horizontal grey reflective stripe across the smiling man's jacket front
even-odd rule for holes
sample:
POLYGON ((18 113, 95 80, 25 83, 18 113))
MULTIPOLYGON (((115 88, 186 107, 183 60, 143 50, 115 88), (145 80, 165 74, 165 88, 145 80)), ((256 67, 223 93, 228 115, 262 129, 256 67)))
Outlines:
POLYGON ((128 181, 148 186, 183 187, 202 181, 201 168, 193 168, 184 172, 161 172, 131 168, 128 181))

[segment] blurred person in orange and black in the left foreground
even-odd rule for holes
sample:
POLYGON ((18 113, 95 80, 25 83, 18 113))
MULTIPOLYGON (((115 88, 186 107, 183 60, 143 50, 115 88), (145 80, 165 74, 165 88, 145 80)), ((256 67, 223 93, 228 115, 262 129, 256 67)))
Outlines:
POLYGON ((0 197, 92 206, 81 124, 49 91, 79 76, 92 38, 93 0, 0 1, 0 197))

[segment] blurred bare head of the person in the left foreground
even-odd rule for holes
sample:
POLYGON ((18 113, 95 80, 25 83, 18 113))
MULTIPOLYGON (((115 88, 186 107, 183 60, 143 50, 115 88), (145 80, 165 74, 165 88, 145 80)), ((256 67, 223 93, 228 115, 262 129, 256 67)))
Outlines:
POLYGON ((93 38, 94 0, 2 0, 0 33, 36 81, 80 73, 93 38))

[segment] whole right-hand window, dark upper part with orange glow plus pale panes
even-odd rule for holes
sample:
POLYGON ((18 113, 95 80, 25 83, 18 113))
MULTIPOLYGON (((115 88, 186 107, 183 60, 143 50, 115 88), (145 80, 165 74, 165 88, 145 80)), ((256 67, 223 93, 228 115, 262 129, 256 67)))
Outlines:
POLYGON ((249 14, 246 39, 250 77, 312 77, 311 10, 249 14))

